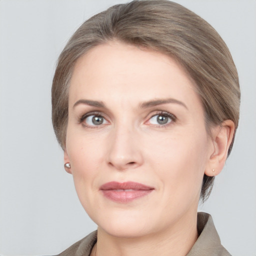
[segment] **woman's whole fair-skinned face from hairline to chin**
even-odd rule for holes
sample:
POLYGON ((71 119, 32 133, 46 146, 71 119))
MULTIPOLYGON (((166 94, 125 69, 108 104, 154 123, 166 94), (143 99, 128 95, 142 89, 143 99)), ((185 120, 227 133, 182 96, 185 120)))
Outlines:
POLYGON ((170 57, 119 42, 76 62, 64 158, 99 229, 132 237, 195 221, 212 142, 194 86, 170 57))

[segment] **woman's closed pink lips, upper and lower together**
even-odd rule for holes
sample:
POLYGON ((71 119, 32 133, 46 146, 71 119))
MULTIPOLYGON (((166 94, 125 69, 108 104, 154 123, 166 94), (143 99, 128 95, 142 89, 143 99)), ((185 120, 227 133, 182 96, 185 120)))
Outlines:
POLYGON ((105 197, 116 202, 129 202, 152 192, 153 187, 137 182, 116 182, 111 181, 99 188, 105 197))

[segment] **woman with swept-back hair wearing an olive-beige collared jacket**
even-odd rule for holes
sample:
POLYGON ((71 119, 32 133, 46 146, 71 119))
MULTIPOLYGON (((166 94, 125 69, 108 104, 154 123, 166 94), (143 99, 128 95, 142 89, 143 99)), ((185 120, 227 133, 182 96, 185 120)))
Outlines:
POLYGON ((59 255, 230 255, 197 205, 239 101, 225 43, 181 5, 132 1, 85 21, 58 59, 52 121, 98 228, 59 255))

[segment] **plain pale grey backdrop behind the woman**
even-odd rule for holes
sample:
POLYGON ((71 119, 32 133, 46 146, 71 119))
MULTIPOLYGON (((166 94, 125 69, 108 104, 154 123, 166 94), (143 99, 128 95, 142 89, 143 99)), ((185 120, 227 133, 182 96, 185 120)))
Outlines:
MULTIPOLYGON (((88 17, 126 0, 0 0, 0 255, 52 255, 96 228, 51 126, 56 59, 88 17)), ((233 256, 256 255, 256 1, 176 0, 206 19, 238 69, 233 151, 199 210, 233 256)), ((214 57, 214 56, 213 56, 214 57)))

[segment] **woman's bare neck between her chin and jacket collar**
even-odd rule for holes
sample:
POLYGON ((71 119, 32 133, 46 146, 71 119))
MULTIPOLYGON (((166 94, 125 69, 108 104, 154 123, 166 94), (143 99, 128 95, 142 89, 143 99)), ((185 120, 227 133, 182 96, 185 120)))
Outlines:
POLYGON ((96 256, 184 256, 197 237, 196 215, 190 219, 182 218, 171 227, 142 237, 117 237, 98 227, 94 254, 96 256))

